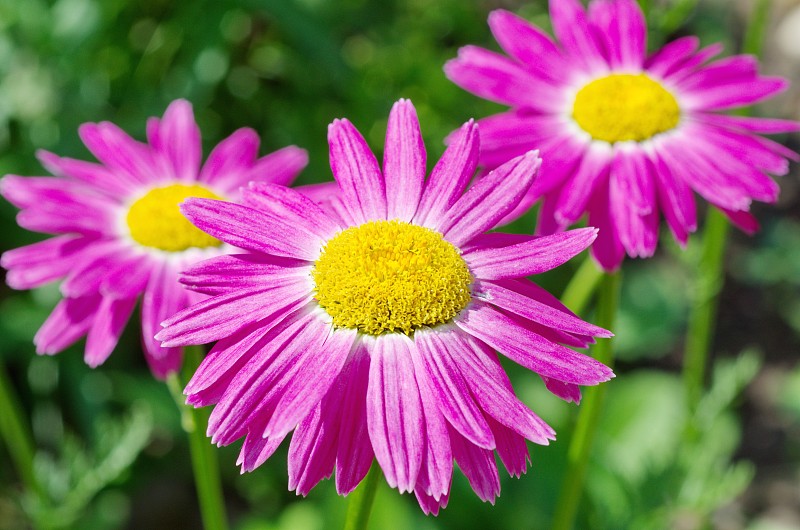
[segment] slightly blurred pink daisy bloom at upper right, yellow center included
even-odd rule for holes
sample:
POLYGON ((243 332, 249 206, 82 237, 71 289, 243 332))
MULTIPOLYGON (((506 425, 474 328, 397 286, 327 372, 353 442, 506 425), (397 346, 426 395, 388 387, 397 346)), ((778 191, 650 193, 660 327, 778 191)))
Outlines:
POLYGON ((758 224, 753 200, 774 202, 796 153, 759 136, 798 123, 718 111, 750 105, 786 88, 757 72, 755 57, 709 62, 714 44, 675 40, 646 55, 645 19, 635 0, 551 0, 559 44, 507 11, 489 26, 510 57, 467 46, 447 76, 508 112, 480 121, 481 164, 491 169, 538 148, 542 175, 518 215, 542 199, 538 233, 563 230, 588 212, 600 229, 592 254, 606 270, 625 253, 652 256, 663 214, 685 245, 697 227, 696 192, 746 232, 758 224))

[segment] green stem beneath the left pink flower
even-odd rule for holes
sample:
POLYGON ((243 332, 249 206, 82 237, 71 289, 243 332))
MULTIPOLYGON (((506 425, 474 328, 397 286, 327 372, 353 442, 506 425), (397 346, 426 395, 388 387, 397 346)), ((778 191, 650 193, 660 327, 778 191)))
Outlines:
MULTIPOLYGON (((183 350, 183 355, 184 380, 188 381, 203 360, 203 348, 187 346, 183 350)), ((170 377, 167 386, 181 411, 183 429, 189 435, 189 452, 192 456, 192 471, 203 527, 206 530, 227 530, 228 522, 225 517, 225 501, 222 496, 217 452, 206 436, 209 410, 196 409, 185 404, 181 394, 183 385, 178 381, 177 375, 170 377)))

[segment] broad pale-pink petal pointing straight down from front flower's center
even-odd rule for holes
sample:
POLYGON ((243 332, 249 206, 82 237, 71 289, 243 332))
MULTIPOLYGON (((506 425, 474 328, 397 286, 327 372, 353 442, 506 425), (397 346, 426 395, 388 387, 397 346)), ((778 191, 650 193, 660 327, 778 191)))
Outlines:
POLYGON ((391 333, 369 340, 374 340, 367 388, 369 438, 389 485, 410 492, 425 446, 420 436, 422 404, 409 352, 413 345, 405 335, 391 333))

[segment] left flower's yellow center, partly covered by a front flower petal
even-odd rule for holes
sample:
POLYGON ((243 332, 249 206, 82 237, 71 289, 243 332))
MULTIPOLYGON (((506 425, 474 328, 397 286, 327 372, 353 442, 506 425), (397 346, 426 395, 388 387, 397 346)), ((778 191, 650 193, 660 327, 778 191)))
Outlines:
POLYGON ((169 252, 220 246, 221 241, 194 226, 181 214, 178 204, 189 197, 222 198, 198 185, 173 184, 154 188, 134 202, 125 217, 133 240, 145 247, 169 252))

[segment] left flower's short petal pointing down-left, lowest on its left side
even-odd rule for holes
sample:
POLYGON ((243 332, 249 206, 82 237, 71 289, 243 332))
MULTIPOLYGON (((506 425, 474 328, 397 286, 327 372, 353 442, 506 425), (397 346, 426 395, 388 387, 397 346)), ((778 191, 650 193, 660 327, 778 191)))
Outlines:
POLYGON ((61 300, 33 337, 36 353, 53 355, 85 335, 99 305, 100 297, 94 294, 61 300))

